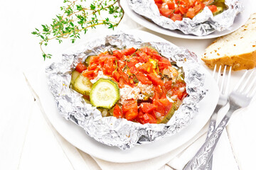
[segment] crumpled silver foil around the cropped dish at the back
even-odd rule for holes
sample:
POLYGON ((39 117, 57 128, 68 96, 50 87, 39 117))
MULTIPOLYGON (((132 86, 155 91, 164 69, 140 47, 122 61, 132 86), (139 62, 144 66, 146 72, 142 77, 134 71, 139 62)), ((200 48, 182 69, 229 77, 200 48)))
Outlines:
POLYGON ((154 0, 129 0, 129 6, 141 16, 149 18, 158 26, 169 30, 181 30, 185 34, 208 35, 215 30, 222 31, 233 25, 235 16, 242 12, 242 0, 225 0, 228 9, 216 16, 208 7, 198 13, 193 19, 183 18, 182 21, 172 21, 170 18, 160 16, 154 0))

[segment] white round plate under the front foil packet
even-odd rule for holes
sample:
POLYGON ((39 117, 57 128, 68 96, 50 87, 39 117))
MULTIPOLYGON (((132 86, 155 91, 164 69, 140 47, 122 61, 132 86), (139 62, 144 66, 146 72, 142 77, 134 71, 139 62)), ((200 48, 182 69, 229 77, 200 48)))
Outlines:
MULTIPOLYGON (((142 30, 132 30, 127 33, 133 34, 134 36, 148 42, 167 42, 156 35, 146 33, 142 30)), ((202 69, 204 68, 202 67, 202 69)), ((48 89, 44 69, 41 70, 38 77, 38 82, 41 85, 41 91, 38 95, 50 123, 52 123, 53 127, 60 133, 60 135, 62 135, 72 145, 93 157, 97 157, 108 162, 138 162, 158 157, 180 147, 184 143, 188 142, 188 140, 195 136, 203 126, 206 125, 218 102, 219 94, 215 80, 206 70, 205 74, 205 87, 208 89, 208 92, 199 103, 199 113, 195 118, 193 118, 190 125, 181 130, 181 132, 178 132, 176 135, 165 137, 164 139, 150 144, 136 145, 132 149, 128 150, 121 150, 118 147, 103 145, 89 137, 85 130, 80 128, 78 125, 75 125, 75 123, 65 120, 65 118, 58 113, 58 108, 53 95, 48 89)))

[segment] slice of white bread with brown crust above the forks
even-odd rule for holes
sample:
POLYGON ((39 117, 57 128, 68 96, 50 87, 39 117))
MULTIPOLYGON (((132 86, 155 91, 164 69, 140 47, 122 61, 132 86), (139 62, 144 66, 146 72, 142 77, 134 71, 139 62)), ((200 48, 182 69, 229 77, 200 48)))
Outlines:
POLYGON ((245 26, 229 35, 217 38, 206 48, 202 57, 210 68, 232 66, 233 70, 253 69, 256 66, 256 13, 245 26))

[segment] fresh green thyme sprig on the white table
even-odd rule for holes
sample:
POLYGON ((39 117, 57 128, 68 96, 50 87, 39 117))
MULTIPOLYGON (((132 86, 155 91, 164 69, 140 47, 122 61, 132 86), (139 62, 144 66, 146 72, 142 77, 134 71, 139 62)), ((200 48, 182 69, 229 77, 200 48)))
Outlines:
POLYGON ((61 6, 63 14, 58 14, 53 18, 50 25, 42 25, 43 29, 36 28, 33 35, 41 38, 39 45, 44 60, 51 58, 52 55, 46 54, 42 46, 47 46, 49 40, 70 38, 74 43, 80 38, 80 33, 87 33, 88 28, 105 25, 114 29, 118 26, 124 16, 124 11, 119 5, 119 0, 64 0, 66 6, 61 6), (103 16, 109 16, 104 18, 103 16))

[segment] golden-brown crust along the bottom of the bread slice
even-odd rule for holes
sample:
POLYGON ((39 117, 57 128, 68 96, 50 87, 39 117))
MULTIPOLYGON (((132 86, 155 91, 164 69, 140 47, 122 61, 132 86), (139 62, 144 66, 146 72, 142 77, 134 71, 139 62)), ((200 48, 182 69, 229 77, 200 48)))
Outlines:
POLYGON ((256 50, 242 55, 223 56, 215 59, 208 59, 205 55, 201 60, 206 63, 208 67, 213 69, 215 64, 217 67, 232 66, 234 71, 241 69, 253 69, 256 67, 256 50))

